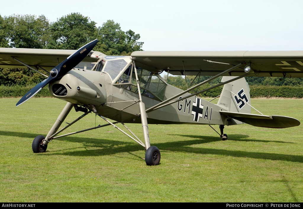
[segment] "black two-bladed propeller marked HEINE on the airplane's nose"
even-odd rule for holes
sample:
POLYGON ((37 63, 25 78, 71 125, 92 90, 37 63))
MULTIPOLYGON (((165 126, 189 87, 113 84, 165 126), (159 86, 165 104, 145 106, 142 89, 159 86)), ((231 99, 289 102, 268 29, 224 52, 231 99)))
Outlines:
POLYGON ((89 42, 88 44, 82 46, 71 56, 66 58, 62 63, 58 64, 49 72, 49 77, 37 84, 31 90, 29 90, 16 104, 16 107, 26 102, 30 98, 32 98, 35 94, 37 94, 43 87, 52 81, 59 80, 64 76, 68 71, 72 70, 76 67, 87 55, 92 51, 95 45, 98 43, 98 39, 89 42))

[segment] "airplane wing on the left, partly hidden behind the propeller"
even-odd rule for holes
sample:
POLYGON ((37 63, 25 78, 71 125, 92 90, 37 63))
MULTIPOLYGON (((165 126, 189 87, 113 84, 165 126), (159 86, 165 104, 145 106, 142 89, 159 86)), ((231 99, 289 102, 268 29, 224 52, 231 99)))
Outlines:
MULTIPOLYGON (((25 68, 23 64, 14 60, 14 57, 31 67, 39 66, 45 70, 51 70, 76 51, 77 50, 0 48, 0 67, 25 68)), ((102 53, 91 52, 83 61, 97 62, 99 54, 102 53)))

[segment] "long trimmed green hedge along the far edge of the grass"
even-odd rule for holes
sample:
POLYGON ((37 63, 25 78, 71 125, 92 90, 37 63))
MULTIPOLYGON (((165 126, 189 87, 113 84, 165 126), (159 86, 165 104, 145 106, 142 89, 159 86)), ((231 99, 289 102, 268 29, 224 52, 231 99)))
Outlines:
MULTIPOLYGON (((23 97, 33 86, 0 86, 0 98, 23 97)), ((211 89, 199 94, 200 97, 216 97, 221 94, 222 87, 211 89)), ((255 97, 285 97, 303 98, 303 87, 291 86, 252 86, 250 87, 251 98, 255 97)), ((51 97, 48 88, 44 87, 35 97, 51 97)))

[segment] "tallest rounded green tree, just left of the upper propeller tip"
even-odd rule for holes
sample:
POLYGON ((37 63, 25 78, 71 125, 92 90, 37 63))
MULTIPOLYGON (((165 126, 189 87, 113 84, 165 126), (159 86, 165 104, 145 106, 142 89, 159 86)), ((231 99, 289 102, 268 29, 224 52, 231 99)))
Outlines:
POLYGON ((65 15, 50 27, 48 49, 77 50, 95 39, 96 23, 79 13, 65 15))

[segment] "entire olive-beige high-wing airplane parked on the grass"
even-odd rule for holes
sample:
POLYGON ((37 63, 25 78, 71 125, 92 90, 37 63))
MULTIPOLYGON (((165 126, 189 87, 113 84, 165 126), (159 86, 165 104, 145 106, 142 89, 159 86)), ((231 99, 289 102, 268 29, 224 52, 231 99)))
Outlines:
POLYGON ((287 116, 263 115, 258 110, 260 114, 251 114, 253 107, 245 77, 303 77, 303 51, 135 51, 131 56, 107 56, 93 51, 97 42, 96 39, 78 50, 0 48, 0 67, 25 66, 47 77, 16 106, 47 84, 53 97, 67 102, 48 134, 33 140, 34 153, 45 152, 53 139, 112 125, 144 147, 147 165, 158 165, 161 154, 150 144, 148 124, 219 125, 219 132, 211 128, 222 140, 228 139, 223 132, 225 125, 246 123, 267 128, 300 125, 297 119, 287 116), (162 72, 195 75, 199 84, 183 91, 167 84, 160 76, 162 72), (203 75, 212 77, 200 82, 203 75), (219 76, 223 76, 220 84, 189 93, 219 76), (217 104, 196 96, 221 85, 224 87, 217 104), (83 114, 60 129, 72 108, 83 114), (89 113, 98 115, 107 124, 58 135, 89 113), (142 125, 144 142, 126 123, 142 125))

